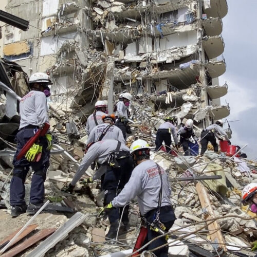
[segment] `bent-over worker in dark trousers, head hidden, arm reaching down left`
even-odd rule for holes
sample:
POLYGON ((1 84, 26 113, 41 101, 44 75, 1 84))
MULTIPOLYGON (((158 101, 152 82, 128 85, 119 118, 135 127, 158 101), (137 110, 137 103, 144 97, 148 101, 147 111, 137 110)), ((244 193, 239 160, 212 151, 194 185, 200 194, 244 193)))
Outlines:
MULTIPOLYGON (((131 176, 134 167, 133 159, 130 155, 130 149, 124 143, 114 139, 106 139, 96 143, 89 143, 86 148, 86 154, 68 187, 62 191, 72 192, 76 183, 83 176, 87 168, 93 161, 101 164, 101 167, 94 175, 93 179, 87 179, 85 182, 100 178, 104 173, 102 187, 104 190, 104 205, 113 200, 118 191, 121 191, 131 176)), ((111 227, 106 234, 106 240, 116 238, 119 227, 119 218, 123 208, 114 208, 108 213, 111 227)), ((128 226, 128 206, 124 209, 122 223, 128 226)))

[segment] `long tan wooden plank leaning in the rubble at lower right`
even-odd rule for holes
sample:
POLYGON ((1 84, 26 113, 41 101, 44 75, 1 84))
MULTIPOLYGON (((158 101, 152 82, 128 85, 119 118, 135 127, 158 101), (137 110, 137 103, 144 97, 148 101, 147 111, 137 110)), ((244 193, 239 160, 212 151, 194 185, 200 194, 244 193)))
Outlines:
MULTIPOLYGON (((206 215, 204 215, 205 220, 208 221, 208 219, 215 218, 214 211, 211 206, 211 201, 205 186, 201 182, 197 182, 195 187, 199 196, 201 207, 203 209, 206 209, 207 211, 206 215)), ((211 241, 218 245, 218 249, 222 248, 226 252, 227 247, 224 245, 225 241, 221 232, 221 227, 219 227, 216 221, 211 223, 210 222, 209 223, 206 222, 206 223, 208 225, 208 229, 210 232, 211 241)))

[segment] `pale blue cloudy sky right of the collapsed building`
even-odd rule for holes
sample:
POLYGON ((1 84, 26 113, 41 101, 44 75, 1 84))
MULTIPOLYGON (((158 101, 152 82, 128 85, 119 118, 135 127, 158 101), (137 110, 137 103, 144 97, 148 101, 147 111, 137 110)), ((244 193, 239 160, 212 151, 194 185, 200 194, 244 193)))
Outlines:
POLYGON ((227 69, 219 77, 219 84, 227 81, 228 94, 221 102, 228 102, 231 108, 226 118, 233 121, 230 122, 231 143, 241 147, 248 144, 243 152, 249 159, 257 160, 257 23, 254 20, 257 1, 227 0, 227 3, 228 14, 223 18, 222 31, 227 69))

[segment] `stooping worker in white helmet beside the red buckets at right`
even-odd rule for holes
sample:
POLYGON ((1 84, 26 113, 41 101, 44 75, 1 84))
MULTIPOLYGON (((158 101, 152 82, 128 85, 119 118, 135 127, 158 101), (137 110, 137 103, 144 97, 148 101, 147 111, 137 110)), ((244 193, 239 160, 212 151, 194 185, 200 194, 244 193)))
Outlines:
MULTIPOLYGON (((201 153, 200 155, 203 155, 207 150, 208 142, 210 142, 213 146, 214 152, 218 152, 218 144, 216 142, 216 137, 219 138, 219 140, 223 140, 221 137, 224 137, 225 140, 229 141, 227 133, 222 129, 223 127, 223 121, 218 120, 215 124, 212 124, 208 126, 205 130, 201 132, 201 153)), ((230 142, 230 141, 229 141, 230 142)))

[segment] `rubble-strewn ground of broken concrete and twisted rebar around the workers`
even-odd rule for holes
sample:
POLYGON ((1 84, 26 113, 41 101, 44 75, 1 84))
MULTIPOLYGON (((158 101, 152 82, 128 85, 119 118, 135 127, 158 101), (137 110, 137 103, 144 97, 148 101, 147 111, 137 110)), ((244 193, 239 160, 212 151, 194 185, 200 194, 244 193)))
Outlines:
MULTIPOLYGON (((154 148, 156 130, 163 118, 171 114, 172 109, 156 110, 156 100, 152 98, 152 95, 142 95, 133 101, 130 117, 133 133, 127 138, 128 146, 138 137, 148 141, 151 148, 154 148)), ((82 222, 69 233, 64 233, 45 256, 102 256, 123 250, 127 251, 122 256, 129 255, 140 227, 136 199, 130 206, 130 229, 123 231, 121 224, 117 240, 106 242, 104 237, 109 228, 108 220, 97 217, 97 208, 102 206, 103 197, 99 183, 90 183, 86 187, 78 184, 74 195, 60 191, 65 183, 71 181, 83 157, 86 141, 86 136, 83 136, 84 125, 66 121, 63 119, 64 114, 62 117, 62 108, 54 111, 55 107, 50 106, 51 130, 57 140, 45 182, 45 196, 59 206, 60 210, 56 213, 39 214, 32 222, 38 226, 19 243, 26 245, 26 240, 37 231, 62 228, 75 212, 80 212, 82 222)), ((196 134, 199 135, 197 128, 196 134)), ((9 234, 23 227, 31 216, 22 214, 11 218, 9 215, 9 174, 12 170, 15 144, 12 140, 8 141, 8 138, 2 140, 5 148, 0 152, 3 208, 0 210, 0 241, 3 240, 3 243, 9 234)), ((170 230, 170 256, 218 256, 225 252, 227 256, 254 256, 250 245, 257 236, 255 214, 241 206, 241 190, 247 183, 256 181, 257 164, 245 159, 227 157, 224 153, 216 154, 211 147, 201 157, 183 156, 182 150, 174 155, 163 151, 151 152, 151 159, 169 172, 172 187, 172 202, 177 219, 170 230), (207 176, 214 176, 214 179, 208 180, 207 176), (221 177, 216 179, 217 176, 221 177)), ((90 168, 87 172, 93 173, 90 168)), ((27 200, 30 178, 28 176, 26 180, 27 200)), ((37 245, 38 241, 27 250, 21 251, 20 256, 36 250, 37 245)), ((31 254, 33 256, 34 253, 31 254)))

